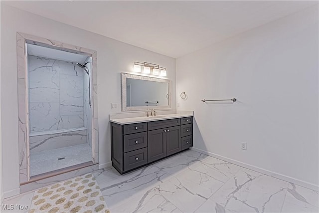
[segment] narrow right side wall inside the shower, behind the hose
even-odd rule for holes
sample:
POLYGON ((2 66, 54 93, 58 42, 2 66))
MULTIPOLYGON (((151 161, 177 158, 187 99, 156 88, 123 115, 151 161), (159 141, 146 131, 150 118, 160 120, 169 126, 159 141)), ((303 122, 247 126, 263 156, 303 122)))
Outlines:
MULTIPOLYGON (((85 60, 85 63, 89 62, 89 61, 91 62, 91 57, 88 57, 85 60)), ((89 78, 89 75, 86 74, 85 71, 83 71, 83 74, 84 74, 83 75, 84 127, 87 129, 87 134, 88 134, 87 143, 89 144, 90 147, 92 147, 92 137, 91 137, 92 136, 92 108, 90 107, 90 104, 89 104, 89 96, 90 96, 90 94, 89 94, 89 81, 91 81, 91 79, 92 79, 91 63, 88 63, 86 66, 89 70, 91 77, 89 78)), ((92 93, 92 91, 91 91, 91 93, 92 93)), ((91 100, 91 102, 93 102, 93 100, 91 100)))

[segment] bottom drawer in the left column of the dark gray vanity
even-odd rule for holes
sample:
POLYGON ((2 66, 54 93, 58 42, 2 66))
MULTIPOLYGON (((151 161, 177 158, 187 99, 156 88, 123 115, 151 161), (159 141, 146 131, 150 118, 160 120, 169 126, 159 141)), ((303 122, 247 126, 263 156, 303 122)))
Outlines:
POLYGON ((124 171, 128 171, 148 163, 148 148, 124 153, 124 171))

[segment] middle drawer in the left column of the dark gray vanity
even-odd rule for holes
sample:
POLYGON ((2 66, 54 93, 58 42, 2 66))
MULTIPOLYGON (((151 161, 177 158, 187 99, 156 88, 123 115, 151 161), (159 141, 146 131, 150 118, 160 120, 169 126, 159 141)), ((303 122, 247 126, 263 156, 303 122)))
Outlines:
POLYGON ((124 152, 130 152, 147 146, 148 132, 140 132, 124 136, 124 152))

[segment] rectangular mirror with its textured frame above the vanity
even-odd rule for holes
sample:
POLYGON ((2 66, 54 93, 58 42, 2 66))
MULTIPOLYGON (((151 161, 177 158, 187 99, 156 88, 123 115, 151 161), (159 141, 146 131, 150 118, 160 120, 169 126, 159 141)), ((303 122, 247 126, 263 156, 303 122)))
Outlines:
POLYGON ((168 79, 121 73, 122 111, 171 109, 168 79))

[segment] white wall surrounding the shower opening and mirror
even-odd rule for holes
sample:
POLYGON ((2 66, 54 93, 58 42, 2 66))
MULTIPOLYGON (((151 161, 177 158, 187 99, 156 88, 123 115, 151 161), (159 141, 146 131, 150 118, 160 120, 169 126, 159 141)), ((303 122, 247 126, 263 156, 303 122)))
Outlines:
MULTIPOLYGON (((103 23, 101 23, 103 24, 103 23)), ((1 2, 1 113, 3 192, 19 188, 16 32, 24 32, 89 49, 98 54, 99 161, 111 161, 109 114, 121 112, 121 72, 133 71, 134 61, 150 61, 166 67, 175 94, 175 59, 53 21, 1 2), (118 108, 111 110, 111 102, 118 108)), ((175 100, 173 95, 172 100, 175 100)), ((175 107, 175 101, 172 108, 175 107)))

